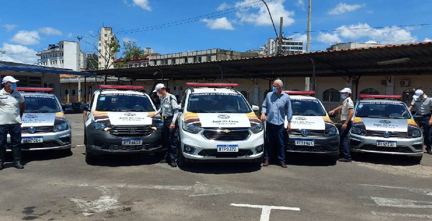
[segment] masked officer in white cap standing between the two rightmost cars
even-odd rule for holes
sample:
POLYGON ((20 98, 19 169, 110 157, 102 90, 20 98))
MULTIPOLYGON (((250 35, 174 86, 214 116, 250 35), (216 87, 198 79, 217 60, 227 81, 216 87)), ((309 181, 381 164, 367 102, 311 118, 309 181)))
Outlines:
POLYGON ((341 110, 342 130, 340 139, 342 145, 342 154, 344 157, 340 158, 338 161, 351 162, 350 146, 348 145, 348 134, 353 127, 351 119, 354 115, 354 103, 351 99, 352 92, 350 88, 346 87, 339 92, 341 92, 341 97, 344 99, 344 101, 341 105, 330 111, 329 115, 334 115, 336 111, 341 110))

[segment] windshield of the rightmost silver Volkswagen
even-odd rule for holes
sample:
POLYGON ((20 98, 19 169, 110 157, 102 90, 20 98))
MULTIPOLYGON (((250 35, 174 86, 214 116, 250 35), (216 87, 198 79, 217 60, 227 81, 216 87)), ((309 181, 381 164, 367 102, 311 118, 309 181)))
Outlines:
POLYGON ((410 119, 411 114, 402 102, 361 102, 357 105, 356 117, 410 119))

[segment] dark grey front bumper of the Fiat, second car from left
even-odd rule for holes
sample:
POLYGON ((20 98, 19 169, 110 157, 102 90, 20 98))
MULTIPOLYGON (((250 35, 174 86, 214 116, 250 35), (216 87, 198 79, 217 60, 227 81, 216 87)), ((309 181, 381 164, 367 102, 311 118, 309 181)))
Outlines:
MULTIPOLYGON (((128 137, 114 137, 108 132, 93 129, 91 125, 86 127, 85 136, 87 136, 87 151, 96 155, 151 154, 166 150, 166 148, 162 146, 161 130, 156 130, 147 137, 141 137, 140 139, 143 140, 143 144, 135 146, 123 146, 122 139, 129 139, 128 137)), ((136 137, 132 139, 136 139, 136 137)))

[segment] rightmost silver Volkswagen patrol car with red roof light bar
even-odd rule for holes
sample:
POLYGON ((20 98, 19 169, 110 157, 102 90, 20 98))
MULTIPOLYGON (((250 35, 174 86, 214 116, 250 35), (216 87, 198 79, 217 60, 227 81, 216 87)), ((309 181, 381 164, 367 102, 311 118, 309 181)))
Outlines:
POLYGON ((420 162, 423 136, 400 96, 360 95, 354 107, 352 152, 405 155, 420 162))

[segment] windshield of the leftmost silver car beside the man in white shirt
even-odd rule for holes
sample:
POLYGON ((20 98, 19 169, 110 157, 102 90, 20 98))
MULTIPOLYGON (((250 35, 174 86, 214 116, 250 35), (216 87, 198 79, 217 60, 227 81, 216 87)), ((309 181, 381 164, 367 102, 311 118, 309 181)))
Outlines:
POLYGON ((61 112, 57 99, 49 95, 24 95, 26 113, 56 113, 61 112))

